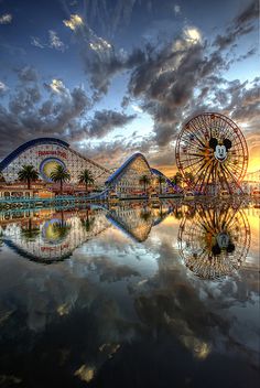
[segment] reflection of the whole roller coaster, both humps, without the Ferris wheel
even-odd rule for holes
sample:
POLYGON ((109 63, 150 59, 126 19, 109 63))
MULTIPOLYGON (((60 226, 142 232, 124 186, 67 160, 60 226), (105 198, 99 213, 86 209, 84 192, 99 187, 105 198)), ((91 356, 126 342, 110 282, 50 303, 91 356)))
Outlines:
MULTIPOLYGON (((134 204, 136 206, 136 204, 134 204)), ((30 260, 52 263, 68 258, 84 242, 108 227, 116 226, 136 241, 144 241, 152 226, 158 225, 170 207, 91 205, 87 209, 42 209, 8 212, 0 218, 1 240, 17 254, 30 260)))

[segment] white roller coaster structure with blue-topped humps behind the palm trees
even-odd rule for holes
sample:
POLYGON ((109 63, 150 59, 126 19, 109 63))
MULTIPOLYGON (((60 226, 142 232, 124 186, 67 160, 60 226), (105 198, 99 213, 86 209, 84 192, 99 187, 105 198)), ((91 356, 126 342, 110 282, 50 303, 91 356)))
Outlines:
MULTIPOLYGON (((39 138, 20 146, 0 162, 0 172, 7 183, 14 183, 19 179, 21 168, 28 164, 35 168, 40 180, 45 183, 52 183, 52 171, 62 165, 69 171, 73 185, 78 183, 79 173, 87 169, 97 186, 109 187, 122 195, 142 191, 140 177, 143 175, 147 175, 151 183, 155 183, 158 175, 164 176, 160 171, 151 169, 141 153, 134 153, 111 174, 110 170, 83 157, 65 141, 54 138, 39 138)), ((164 181, 163 191, 171 184, 165 176, 164 181)))

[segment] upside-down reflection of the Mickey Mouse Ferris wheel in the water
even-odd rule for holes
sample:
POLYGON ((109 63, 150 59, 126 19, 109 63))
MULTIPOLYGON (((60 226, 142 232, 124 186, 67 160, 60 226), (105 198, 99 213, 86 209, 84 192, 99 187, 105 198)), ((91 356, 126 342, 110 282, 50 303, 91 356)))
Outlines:
POLYGON ((178 229, 178 250, 186 267, 204 279, 231 274, 245 260, 250 228, 242 209, 227 204, 201 205, 193 219, 185 217, 178 229))

